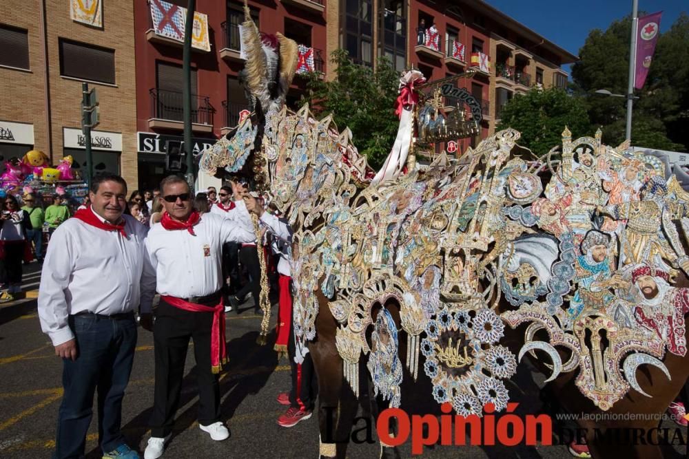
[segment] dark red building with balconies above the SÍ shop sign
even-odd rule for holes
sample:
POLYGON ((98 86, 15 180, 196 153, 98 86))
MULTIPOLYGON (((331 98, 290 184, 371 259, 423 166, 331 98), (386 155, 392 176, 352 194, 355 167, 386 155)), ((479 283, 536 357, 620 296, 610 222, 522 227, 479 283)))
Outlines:
MULTIPOLYGON (((134 0, 136 41, 136 130, 139 186, 152 188, 165 175, 165 142, 183 136, 182 43, 156 34, 154 8, 163 2, 134 0)), ((185 1, 174 1, 182 6, 185 1)), ((194 150, 212 144, 234 127, 247 101, 237 78, 243 68, 239 25, 243 22, 239 0, 198 0, 196 11, 206 14, 210 51, 192 52, 192 122, 194 150)), ((249 1, 261 32, 280 32, 300 45, 313 48, 315 70, 327 71, 325 14, 322 0, 249 1)), ((294 104, 303 81, 297 77, 287 102, 294 104)), ((201 187, 205 184, 200 184, 201 187)))

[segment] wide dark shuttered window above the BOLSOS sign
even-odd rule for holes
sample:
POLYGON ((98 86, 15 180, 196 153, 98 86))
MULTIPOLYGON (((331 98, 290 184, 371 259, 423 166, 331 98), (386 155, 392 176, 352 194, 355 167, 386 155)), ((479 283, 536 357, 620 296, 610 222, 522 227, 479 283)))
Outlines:
POLYGON ((115 52, 103 47, 60 41, 60 74, 115 84, 115 52))

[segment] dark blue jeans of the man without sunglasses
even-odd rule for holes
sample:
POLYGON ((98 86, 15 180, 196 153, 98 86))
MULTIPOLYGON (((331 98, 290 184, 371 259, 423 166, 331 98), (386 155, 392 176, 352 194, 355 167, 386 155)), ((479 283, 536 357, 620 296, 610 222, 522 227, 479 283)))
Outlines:
POLYGON ((75 361, 63 359, 65 392, 57 420, 55 459, 83 457, 96 388, 101 449, 107 453, 125 442, 120 431, 122 398, 136 348, 133 313, 119 320, 94 315, 70 316, 70 328, 79 354, 75 361))

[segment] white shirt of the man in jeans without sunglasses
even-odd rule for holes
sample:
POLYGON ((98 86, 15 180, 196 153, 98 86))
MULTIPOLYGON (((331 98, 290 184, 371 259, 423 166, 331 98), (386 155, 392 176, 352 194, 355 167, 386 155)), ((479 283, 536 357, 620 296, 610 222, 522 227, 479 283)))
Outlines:
POLYGON ((139 306, 141 312, 151 311, 156 278, 145 250, 147 229, 133 217, 123 217, 127 237, 78 218, 66 220, 50 237, 38 310, 41 329, 53 345, 74 338, 70 314, 112 315, 139 306))

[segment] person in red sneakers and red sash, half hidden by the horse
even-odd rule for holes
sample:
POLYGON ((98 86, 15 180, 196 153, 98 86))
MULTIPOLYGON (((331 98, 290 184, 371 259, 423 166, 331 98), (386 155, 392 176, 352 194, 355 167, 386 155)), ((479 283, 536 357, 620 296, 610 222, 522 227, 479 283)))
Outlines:
POLYGON ((287 220, 276 215, 266 213, 265 223, 272 228, 271 249, 278 255, 278 274, 280 275, 280 300, 278 310, 278 325, 276 326, 275 350, 287 351, 291 366, 291 389, 289 394, 282 392, 278 395, 278 403, 288 406, 285 414, 278 418, 278 425, 293 427, 313 414, 316 403, 318 382, 313 368, 313 360, 305 343, 298 342, 294 336, 294 316, 292 314, 292 278, 290 260, 292 259, 291 243, 292 229, 287 220), (277 230, 277 231, 276 231, 277 230))

